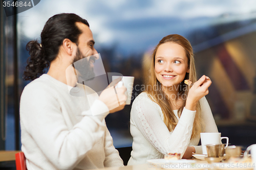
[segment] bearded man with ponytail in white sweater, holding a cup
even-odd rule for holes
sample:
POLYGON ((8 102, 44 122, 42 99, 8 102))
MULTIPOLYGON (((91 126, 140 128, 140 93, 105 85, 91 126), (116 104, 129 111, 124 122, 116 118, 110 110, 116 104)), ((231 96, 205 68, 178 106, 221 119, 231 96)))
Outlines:
POLYGON ((93 74, 98 55, 88 22, 75 14, 54 15, 41 32, 41 43, 30 41, 27 50, 24 79, 33 81, 20 99, 20 127, 28 170, 122 166, 104 118, 123 109, 125 87, 110 86, 98 96, 66 72, 83 60, 89 77, 93 74), (69 87, 85 95, 71 95, 69 87))

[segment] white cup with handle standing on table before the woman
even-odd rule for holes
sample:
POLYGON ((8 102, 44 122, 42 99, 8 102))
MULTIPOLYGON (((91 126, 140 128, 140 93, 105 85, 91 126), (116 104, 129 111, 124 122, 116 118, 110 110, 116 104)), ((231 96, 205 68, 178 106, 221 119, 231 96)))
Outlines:
POLYGON ((228 146, 228 137, 221 137, 221 133, 200 133, 203 154, 207 155, 206 144, 221 144, 222 139, 227 139, 226 147, 228 146))

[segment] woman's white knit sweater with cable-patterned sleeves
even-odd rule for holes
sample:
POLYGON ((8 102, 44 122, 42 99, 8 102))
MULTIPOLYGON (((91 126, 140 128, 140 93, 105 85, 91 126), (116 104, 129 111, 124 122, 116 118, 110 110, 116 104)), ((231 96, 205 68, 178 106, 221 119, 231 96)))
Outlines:
MULTIPOLYGON (((206 98, 203 97, 199 102, 206 125, 205 132, 218 132, 206 98)), ((202 153, 202 147, 197 146, 200 134, 190 140, 196 111, 184 108, 180 118, 178 110, 174 110, 174 113, 178 124, 173 132, 169 132, 163 122, 160 106, 148 98, 145 92, 137 96, 131 110, 133 151, 128 165, 146 163, 148 159, 162 159, 168 153, 181 153, 183 156, 191 145, 195 147, 196 153, 202 153)))

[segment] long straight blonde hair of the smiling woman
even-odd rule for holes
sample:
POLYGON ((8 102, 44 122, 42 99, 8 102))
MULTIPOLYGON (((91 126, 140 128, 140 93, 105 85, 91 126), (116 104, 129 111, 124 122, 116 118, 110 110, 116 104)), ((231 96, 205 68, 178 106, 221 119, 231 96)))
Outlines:
MULTIPOLYGON (((146 87, 154 87, 154 88, 146 88, 145 91, 146 91, 148 97, 161 107, 162 112, 163 112, 163 121, 164 121, 165 125, 167 126, 168 130, 171 132, 176 127, 178 121, 173 112, 173 108, 172 108, 172 105, 170 104, 170 100, 169 100, 168 96, 164 93, 164 91, 161 87, 161 83, 157 80, 156 74, 155 74, 155 56, 156 56, 157 49, 161 44, 166 43, 166 42, 177 43, 177 44, 183 46, 183 48, 186 52, 186 57, 188 59, 189 73, 186 73, 184 80, 189 79, 192 83, 194 83, 197 81, 197 76, 196 76, 193 48, 192 48, 190 42, 183 36, 177 35, 177 34, 167 35, 167 36, 163 37, 162 40, 159 41, 159 43, 155 47, 155 50, 153 51, 150 76, 148 76, 145 81, 146 87), (160 100, 160 96, 161 96, 161 100, 160 100)), ((187 96, 188 91, 189 91, 189 88, 184 83, 184 80, 180 83, 181 88, 179 88, 179 96, 183 96, 184 94, 185 94, 185 96, 187 96)), ((181 116, 181 112, 186 105, 186 99, 183 99, 183 98, 181 98, 181 99, 183 100, 183 102, 182 102, 182 106, 178 110, 179 117, 181 116)), ((177 100, 177 98, 176 98, 176 100, 177 100)), ((193 131, 191 134, 191 138, 193 138, 196 135, 203 132, 203 129, 204 129, 204 123, 201 118, 201 107, 200 107, 199 102, 197 103, 196 111, 197 111, 197 113, 196 113, 196 117, 194 120, 194 126, 193 126, 193 131)))

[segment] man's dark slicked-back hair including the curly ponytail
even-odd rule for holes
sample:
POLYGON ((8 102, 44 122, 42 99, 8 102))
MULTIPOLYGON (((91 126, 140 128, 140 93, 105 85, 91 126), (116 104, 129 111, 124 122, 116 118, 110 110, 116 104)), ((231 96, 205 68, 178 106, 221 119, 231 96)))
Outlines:
POLYGON ((62 13, 48 19, 41 32, 41 44, 33 40, 26 46, 30 57, 24 71, 24 80, 35 80, 46 72, 51 61, 57 57, 64 39, 68 38, 78 43, 82 31, 77 27, 76 22, 82 22, 89 27, 87 20, 76 14, 62 13))

